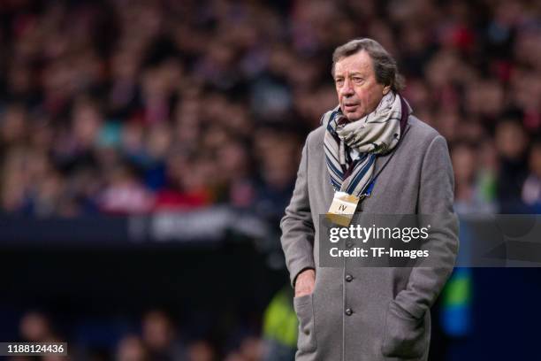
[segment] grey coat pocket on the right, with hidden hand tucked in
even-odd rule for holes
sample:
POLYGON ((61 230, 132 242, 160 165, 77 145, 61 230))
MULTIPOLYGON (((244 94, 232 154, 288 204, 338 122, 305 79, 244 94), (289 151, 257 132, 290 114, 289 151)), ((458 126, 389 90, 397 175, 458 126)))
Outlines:
POLYGON ((394 302, 385 317, 385 336, 381 351, 386 357, 422 357, 427 349, 428 335, 424 317, 415 319, 394 302))

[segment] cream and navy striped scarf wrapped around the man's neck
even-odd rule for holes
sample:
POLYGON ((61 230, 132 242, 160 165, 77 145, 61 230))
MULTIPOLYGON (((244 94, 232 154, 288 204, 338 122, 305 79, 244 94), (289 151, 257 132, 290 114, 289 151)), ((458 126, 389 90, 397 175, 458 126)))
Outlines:
POLYGON ((410 113, 408 103, 394 92, 387 93, 375 111, 353 122, 339 107, 324 113, 324 150, 332 187, 350 195, 364 195, 374 177, 376 157, 396 147, 410 113), (349 155, 351 149, 360 153, 354 161, 349 155))

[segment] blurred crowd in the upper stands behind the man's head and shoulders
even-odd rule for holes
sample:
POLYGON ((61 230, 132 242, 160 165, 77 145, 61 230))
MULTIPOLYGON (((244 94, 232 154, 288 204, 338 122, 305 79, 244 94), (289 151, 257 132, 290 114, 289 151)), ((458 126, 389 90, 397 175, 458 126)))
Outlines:
POLYGON ((534 1, 0 4, 0 205, 63 217, 232 204, 280 214, 333 107, 331 52, 398 59, 451 145, 457 210, 539 211, 534 1))

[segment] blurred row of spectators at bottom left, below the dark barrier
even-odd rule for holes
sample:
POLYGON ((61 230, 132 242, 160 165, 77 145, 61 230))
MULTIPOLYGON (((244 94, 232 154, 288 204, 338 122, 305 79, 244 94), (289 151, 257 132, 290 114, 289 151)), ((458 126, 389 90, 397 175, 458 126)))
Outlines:
MULTIPOLYGON (((171 315, 161 310, 146 312, 135 325, 127 319, 122 322, 121 326, 117 321, 116 327, 100 329, 109 335, 109 340, 98 342, 93 340, 92 330, 89 332, 88 329, 83 332, 71 330, 72 337, 66 338, 46 313, 27 311, 19 322, 19 342, 68 341, 68 357, 48 355, 41 357, 42 361, 258 361, 268 352, 265 342, 254 334, 240 334, 220 341, 187 337, 171 315), (124 332, 118 332, 120 328, 124 332), (218 348, 218 344, 222 347, 218 348)), ((9 359, 30 361, 35 357, 9 359)))

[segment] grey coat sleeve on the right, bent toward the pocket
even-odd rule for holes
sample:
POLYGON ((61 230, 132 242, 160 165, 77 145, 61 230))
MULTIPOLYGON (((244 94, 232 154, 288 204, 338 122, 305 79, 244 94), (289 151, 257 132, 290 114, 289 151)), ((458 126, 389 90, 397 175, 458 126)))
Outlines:
POLYGON ((436 227, 430 231, 431 266, 418 264, 409 276, 408 285, 394 302, 416 319, 423 317, 436 301, 453 271, 458 252, 458 218, 453 211, 453 166, 446 140, 437 135, 423 158, 417 213, 434 217, 436 227), (438 267, 434 267, 437 262, 438 267))

